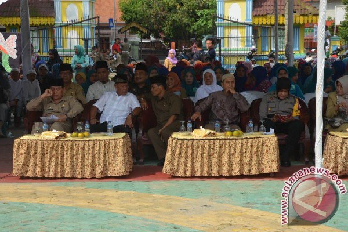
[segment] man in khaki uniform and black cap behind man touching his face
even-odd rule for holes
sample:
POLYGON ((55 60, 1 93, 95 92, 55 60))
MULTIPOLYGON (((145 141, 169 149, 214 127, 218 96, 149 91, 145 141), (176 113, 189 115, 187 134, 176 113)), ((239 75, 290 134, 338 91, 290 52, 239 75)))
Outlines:
POLYGON ((59 71, 59 76, 63 79, 64 82, 64 96, 73 96, 80 102, 82 102, 82 104, 86 104, 84 89, 82 89, 80 85, 71 81, 73 77, 71 64, 61 64, 59 66, 59 71))

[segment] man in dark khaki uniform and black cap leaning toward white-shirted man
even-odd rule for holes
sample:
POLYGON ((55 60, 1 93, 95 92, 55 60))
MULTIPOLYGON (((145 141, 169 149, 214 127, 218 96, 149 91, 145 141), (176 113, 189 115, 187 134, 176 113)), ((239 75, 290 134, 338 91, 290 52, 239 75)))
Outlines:
POLYGON ((160 167, 164 165, 168 139, 173 132, 179 131, 180 120, 184 119, 182 101, 179 96, 166 91, 165 80, 162 76, 151 77, 152 95, 145 95, 146 98, 151 99, 152 109, 157 118, 157 126, 148 131, 148 136, 155 147, 160 160, 157 166, 160 167))

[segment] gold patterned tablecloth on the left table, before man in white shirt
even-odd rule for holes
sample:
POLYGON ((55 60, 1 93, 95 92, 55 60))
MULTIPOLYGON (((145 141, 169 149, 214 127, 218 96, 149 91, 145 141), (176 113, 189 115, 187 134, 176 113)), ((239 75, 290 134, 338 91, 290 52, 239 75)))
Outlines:
POLYGON ((128 175, 132 167, 130 138, 125 133, 64 139, 25 135, 13 147, 14 176, 101 178, 128 175))

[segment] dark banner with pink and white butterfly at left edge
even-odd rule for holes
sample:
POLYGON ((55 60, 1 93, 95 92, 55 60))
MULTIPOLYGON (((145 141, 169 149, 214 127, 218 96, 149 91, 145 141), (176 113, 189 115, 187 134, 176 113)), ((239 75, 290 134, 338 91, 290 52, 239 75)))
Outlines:
POLYGON ((21 33, 0 32, 0 61, 7 72, 19 67, 21 56, 21 33))

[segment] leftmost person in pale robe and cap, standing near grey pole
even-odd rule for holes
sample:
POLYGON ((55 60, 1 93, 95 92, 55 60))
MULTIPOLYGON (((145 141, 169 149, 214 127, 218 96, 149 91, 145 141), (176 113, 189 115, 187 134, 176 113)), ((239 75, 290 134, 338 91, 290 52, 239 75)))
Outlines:
POLYGON ((19 69, 13 68, 11 70, 11 95, 8 99, 9 105, 11 107, 11 111, 15 116, 14 124, 15 127, 19 127, 21 125, 21 114, 23 111, 23 100, 24 100, 24 90, 23 90, 23 81, 19 80, 19 76, 21 72, 19 69))

